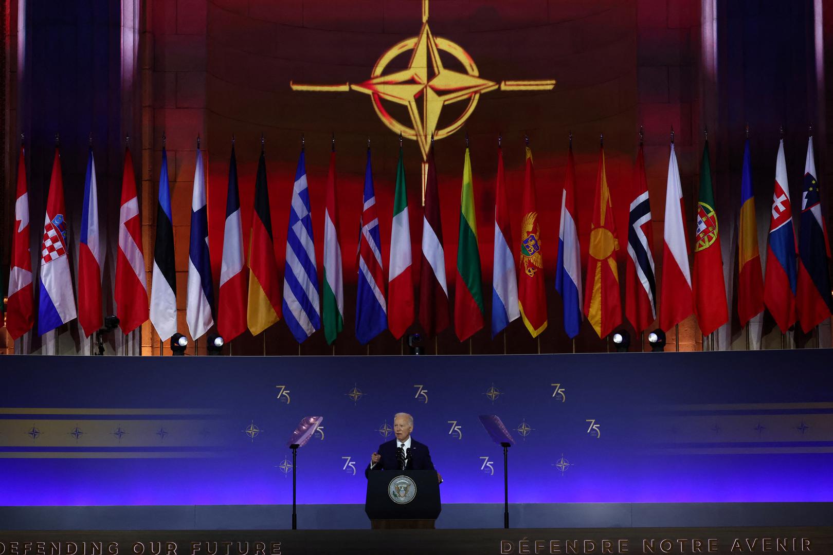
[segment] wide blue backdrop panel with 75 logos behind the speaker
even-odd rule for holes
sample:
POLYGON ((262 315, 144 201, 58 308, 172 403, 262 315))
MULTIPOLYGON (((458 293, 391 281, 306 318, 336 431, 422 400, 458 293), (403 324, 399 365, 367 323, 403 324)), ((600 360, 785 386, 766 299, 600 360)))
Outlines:
POLYGON ((444 503, 833 500, 830 351, 2 357, 5 505, 362 503, 393 414, 444 503), (556 385, 557 384, 557 385, 556 385), (306 415, 323 429, 286 446, 306 415))

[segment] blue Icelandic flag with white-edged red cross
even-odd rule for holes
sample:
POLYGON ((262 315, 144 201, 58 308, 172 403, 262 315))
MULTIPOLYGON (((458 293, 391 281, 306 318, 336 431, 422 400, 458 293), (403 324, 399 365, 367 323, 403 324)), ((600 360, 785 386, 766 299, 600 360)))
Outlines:
POLYGON ((359 236, 358 288, 356 295, 356 339, 368 341, 387 329, 385 275, 382 273, 382 239, 373 190, 370 148, 367 149, 365 186, 362 197, 361 235, 359 236))

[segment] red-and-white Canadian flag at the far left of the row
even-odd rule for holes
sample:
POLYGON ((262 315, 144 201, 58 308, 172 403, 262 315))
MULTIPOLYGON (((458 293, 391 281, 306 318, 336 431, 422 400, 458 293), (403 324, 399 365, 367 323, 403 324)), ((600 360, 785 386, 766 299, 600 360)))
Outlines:
POLYGON ((29 193, 26 186, 26 156, 20 147, 17 161, 17 194, 14 201, 12 259, 8 275, 6 330, 12 339, 32 330, 35 323, 32 288, 32 257, 29 254, 29 193))

